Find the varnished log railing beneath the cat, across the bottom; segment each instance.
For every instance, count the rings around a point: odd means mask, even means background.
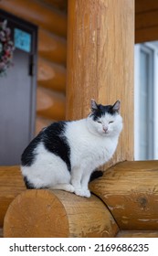
[[[19,169],[14,171],[19,176]],[[158,161],[127,161],[91,182],[90,198],[59,190],[24,191],[24,184],[18,185],[11,198],[20,195],[7,201],[4,236],[158,237],[157,180]],[[3,189],[5,202],[11,192]]]

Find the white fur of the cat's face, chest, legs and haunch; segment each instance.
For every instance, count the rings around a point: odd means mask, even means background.
[[[90,197],[90,175],[110,160],[122,129],[120,114],[106,113],[100,122],[94,122],[89,116],[67,124],[65,135],[70,146],[70,173],[66,163],[40,143],[34,164],[21,167],[23,175],[37,188],[63,189],[81,197]]]

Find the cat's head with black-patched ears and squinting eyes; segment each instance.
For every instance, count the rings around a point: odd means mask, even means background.
[[[91,112],[87,123],[91,133],[102,136],[115,136],[121,133],[122,118],[120,114],[121,101],[113,105],[101,105],[91,100]]]

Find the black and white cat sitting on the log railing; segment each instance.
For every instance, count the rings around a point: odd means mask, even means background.
[[[27,188],[62,189],[90,197],[91,173],[114,154],[122,129],[121,102],[91,100],[90,115],[52,123],[26,147],[21,170]]]

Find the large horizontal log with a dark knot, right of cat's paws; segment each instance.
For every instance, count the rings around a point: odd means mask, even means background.
[[[91,191],[100,197],[121,229],[158,229],[158,161],[124,162],[111,167]]]

